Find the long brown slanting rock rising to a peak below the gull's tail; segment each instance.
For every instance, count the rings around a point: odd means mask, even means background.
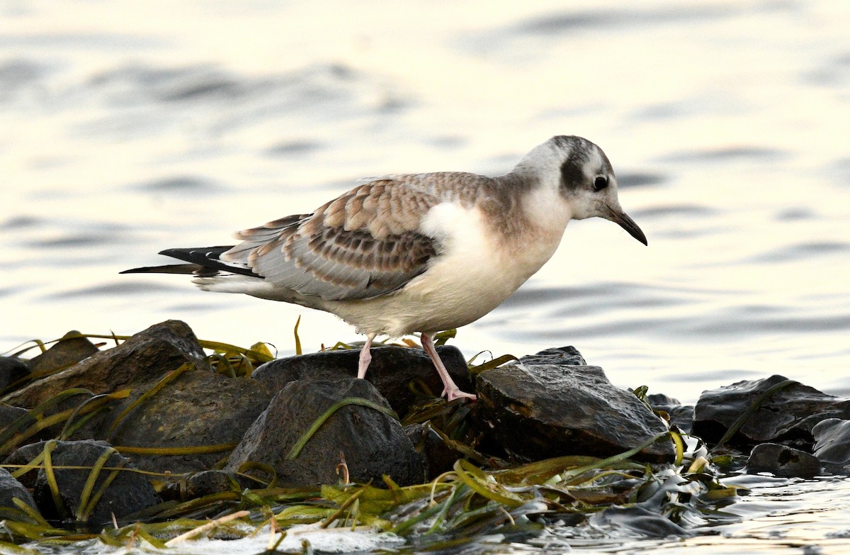
[[[116,392],[159,378],[183,363],[208,370],[204,358],[203,349],[189,326],[169,320],[133,335],[108,351],[97,352],[71,368],[33,381],[8,394],[3,401],[32,408],[72,387],[82,387],[95,394]]]

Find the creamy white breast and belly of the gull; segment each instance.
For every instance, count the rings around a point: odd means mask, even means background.
[[[441,203],[422,220],[422,232],[444,246],[426,272],[391,295],[337,302],[326,310],[362,333],[399,336],[460,327],[492,311],[539,270],[558,248],[564,226],[535,225],[522,237],[505,235],[478,208]]]

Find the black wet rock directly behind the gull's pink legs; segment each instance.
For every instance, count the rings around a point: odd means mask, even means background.
[[[439,358],[449,370],[452,380],[463,391],[471,392],[472,378],[463,355],[454,346],[437,347]],[[416,398],[408,387],[411,380],[422,380],[434,395],[443,391],[443,382],[433,363],[422,349],[399,346],[373,346],[366,380],[377,387],[393,410],[404,415]],[[293,380],[336,379],[340,375],[357,375],[360,349],[314,352],[265,363],[254,370],[252,378],[259,380],[270,392],[279,392]]]

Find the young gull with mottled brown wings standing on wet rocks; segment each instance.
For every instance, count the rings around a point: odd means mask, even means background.
[[[205,291],[282,300],[336,314],[365,335],[365,378],[377,335],[419,332],[448,400],[475,399],[451,379],[433,334],[483,317],[558,249],[570,220],[599,217],[647,244],[621,209],[608,157],[558,135],[507,175],[387,175],[310,214],[235,233],[228,246],[166,249],[188,264],[122,273],[194,274]]]

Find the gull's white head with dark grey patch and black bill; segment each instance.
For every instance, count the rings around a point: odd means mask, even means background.
[[[535,171],[543,186],[558,187],[571,219],[604,218],[647,244],[643,231],[620,206],[617,178],[608,157],[591,141],[558,135],[529,152],[520,166]]]

